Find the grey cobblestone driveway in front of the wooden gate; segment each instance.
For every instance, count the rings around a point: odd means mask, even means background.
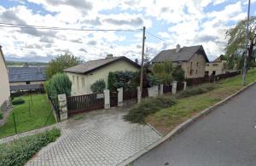
[[[124,122],[108,111],[69,121],[62,135],[26,165],[117,165],[161,138],[147,125]]]

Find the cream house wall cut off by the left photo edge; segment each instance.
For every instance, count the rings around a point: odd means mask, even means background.
[[[0,112],[5,111],[9,106],[9,78],[2,47],[0,46]]]

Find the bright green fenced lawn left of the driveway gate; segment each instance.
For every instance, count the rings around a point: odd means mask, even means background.
[[[20,96],[19,98],[25,100],[25,103],[15,105],[14,110],[12,111],[15,113],[17,132],[23,133],[32,129],[44,127],[44,123],[51,112],[47,96],[45,94],[32,95],[31,116],[29,114],[30,95]],[[15,124],[12,112],[9,115],[7,123],[0,127],[0,138],[15,135]],[[46,125],[53,123],[55,123],[55,117],[51,114]]]

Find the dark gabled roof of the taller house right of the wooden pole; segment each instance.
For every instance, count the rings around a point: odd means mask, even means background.
[[[188,61],[192,58],[194,54],[203,54],[209,62],[207,58],[207,54],[205,53],[203,47],[201,45],[197,46],[190,46],[190,47],[183,47],[178,52],[176,52],[176,49],[166,49],[161,51],[159,54],[157,54],[152,62],[163,62],[166,60],[171,61]]]

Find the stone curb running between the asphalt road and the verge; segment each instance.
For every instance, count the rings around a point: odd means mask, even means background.
[[[207,109],[199,112],[197,115],[194,117],[190,117],[188,120],[184,121],[183,123],[179,124],[175,129],[173,129],[170,133],[168,133],[166,136],[164,136],[162,139],[156,141],[154,144],[146,147],[143,149],[141,152],[138,152],[136,155],[126,159],[124,162],[119,163],[119,166],[125,166],[125,165],[130,165],[132,162],[134,162],[138,157],[142,157],[144,154],[147,152],[151,151],[154,149],[156,146],[160,146],[163,142],[166,140],[171,140],[173,136],[178,135],[181,133],[184,129],[188,128],[192,123],[195,123],[199,118],[207,116],[209,113],[213,112],[218,108],[218,106],[224,105],[227,101],[233,99],[236,95],[241,94],[244,90],[248,89],[249,87],[253,86],[253,83],[247,84],[246,87],[243,87],[239,91],[237,91],[235,94],[231,94],[230,96],[226,97],[224,100],[219,101],[218,103],[214,104],[213,106],[208,107]]]

